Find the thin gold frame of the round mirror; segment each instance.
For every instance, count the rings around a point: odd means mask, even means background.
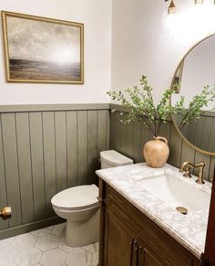
[[[204,40],[206,40],[206,39],[208,39],[208,38],[210,38],[210,37],[213,37],[213,36],[215,36],[215,33],[210,34],[209,36],[202,38],[202,39],[201,39],[200,41],[198,41],[195,45],[193,45],[191,48],[189,48],[189,51],[188,51],[188,52],[184,55],[184,57],[179,61],[179,65],[178,65],[177,69],[176,69],[175,72],[174,72],[173,78],[172,78],[172,80],[171,80],[171,87],[170,87],[171,89],[172,89],[172,87],[173,87],[174,80],[175,80],[175,76],[176,76],[176,74],[177,74],[177,72],[178,72],[178,70],[179,70],[179,67],[180,67],[180,65],[184,62],[184,60],[185,60],[186,57],[189,55],[189,53],[190,53],[194,48],[196,48],[200,43],[202,43]],[[215,83],[215,82],[214,82],[214,83]],[[180,90],[180,89],[179,89],[179,90]],[[179,91],[176,92],[176,93],[179,93]],[[170,104],[171,104],[171,99],[170,99]],[[205,151],[205,150],[202,150],[202,149],[200,149],[199,147],[195,146],[194,144],[191,144],[191,143],[189,142],[189,140],[183,135],[183,133],[181,133],[181,132],[179,131],[179,127],[178,127],[178,125],[176,124],[176,122],[175,122],[175,120],[174,120],[173,114],[171,114],[171,120],[172,120],[172,122],[173,122],[173,124],[174,124],[174,126],[175,126],[175,129],[176,129],[177,132],[179,133],[180,137],[181,137],[181,138],[182,138],[187,144],[189,144],[189,146],[191,146],[191,148],[193,148],[194,150],[200,152],[201,154],[206,154],[206,155],[210,155],[210,156],[215,156],[215,152]]]

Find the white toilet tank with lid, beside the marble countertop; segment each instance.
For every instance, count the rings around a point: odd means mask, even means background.
[[[100,152],[101,169],[116,167],[120,165],[132,165],[133,160],[114,150]]]

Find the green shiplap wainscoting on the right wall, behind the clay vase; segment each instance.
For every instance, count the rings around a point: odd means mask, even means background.
[[[152,135],[143,122],[133,122],[123,124],[119,122],[120,112],[128,112],[128,109],[117,104],[110,104],[110,109],[116,112],[110,113],[110,135],[109,147],[116,149],[119,153],[125,154],[134,159],[135,163],[144,162],[143,146],[151,138]],[[204,131],[206,129],[204,128]],[[169,141],[169,161],[170,165],[179,167],[181,163],[189,161],[190,163],[205,162],[204,179],[211,180],[215,166],[215,156],[200,154],[192,149],[189,144],[182,140],[176,131],[172,122],[163,123],[160,128],[160,136],[166,137]],[[198,175],[198,169],[194,173]]]

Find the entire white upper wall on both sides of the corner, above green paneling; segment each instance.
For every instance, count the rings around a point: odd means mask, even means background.
[[[1,42],[0,104],[108,102],[107,90],[137,85],[142,74],[159,101],[187,50],[215,32],[215,5],[202,12],[193,3],[176,1],[171,20],[164,0],[0,0],[5,11],[85,24],[84,85],[6,83]]]

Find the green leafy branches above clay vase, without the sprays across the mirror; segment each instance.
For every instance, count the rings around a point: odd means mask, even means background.
[[[152,88],[148,85],[146,76],[142,76],[140,87],[125,90],[128,97],[121,90],[108,91],[112,100],[121,101],[122,105],[129,108],[128,114],[121,122],[144,122],[154,136],[158,136],[160,125],[167,122],[171,113],[179,112],[183,108],[184,98],[181,97],[175,106],[171,106],[170,98],[174,90],[165,90],[158,105],[155,105],[152,97]]]

